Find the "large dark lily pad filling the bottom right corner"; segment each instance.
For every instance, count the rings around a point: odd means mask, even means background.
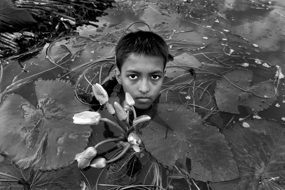
[[[210,183],[213,190],[285,189],[285,128],[273,120],[244,120],[223,130],[232,147],[240,177]],[[280,177],[272,179],[274,177]]]

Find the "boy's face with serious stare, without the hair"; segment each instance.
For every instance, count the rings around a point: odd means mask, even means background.
[[[158,96],[165,75],[163,62],[162,57],[130,54],[121,72],[115,70],[118,83],[131,94],[136,108],[147,109]]]

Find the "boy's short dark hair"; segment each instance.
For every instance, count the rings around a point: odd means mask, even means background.
[[[168,58],[168,47],[159,35],[150,31],[130,32],[123,36],[115,48],[117,67],[121,71],[122,65],[131,53],[148,56],[162,56],[163,68]]]

